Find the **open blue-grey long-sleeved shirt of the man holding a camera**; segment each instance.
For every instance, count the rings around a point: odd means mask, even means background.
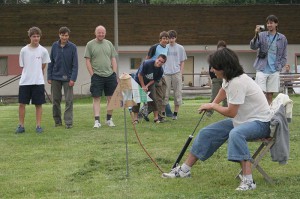
[[[275,60],[275,68],[276,71],[281,71],[281,69],[284,67],[286,64],[286,56],[287,56],[287,39],[286,37],[278,33],[276,41],[276,46],[277,46],[277,53],[276,53],[276,60]],[[268,37],[269,37],[269,32],[264,31],[260,32],[258,39],[253,38],[250,41],[250,48],[252,50],[257,50],[260,49],[262,52],[267,52],[268,51]],[[259,50],[257,51],[257,55],[259,53]],[[268,63],[268,56],[265,58],[259,58],[256,57],[255,62],[253,67],[256,70],[263,71],[264,68],[267,66]]]

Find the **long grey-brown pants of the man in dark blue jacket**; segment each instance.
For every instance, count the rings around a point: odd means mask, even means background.
[[[65,95],[65,112],[64,121],[66,125],[73,124],[73,87],[69,86],[69,82],[52,80],[51,94],[52,94],[52,111],[53,119],[56,124],[62,123],[61,119],[61,100],[62,100],[62,88]]]

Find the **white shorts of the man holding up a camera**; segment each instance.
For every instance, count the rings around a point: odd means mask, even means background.
[[[255,82],[265,93],[278,93],[280,86],[279,72],[266,74],[261,71],[256,72]]]

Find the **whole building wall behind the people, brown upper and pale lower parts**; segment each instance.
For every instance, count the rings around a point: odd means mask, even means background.
[[[300,56],[300,5],[259,6],[202,6],[202,5],[119,5],[119,73],[134,72],[130,58],[146,57],[149,47],[158,42],[159,32],[175,29],[177,41],[184,45],[187,55],[193,57],[192,83],[201,84],[199,74],[208,70],[207,55],[216,48],[219,39],[235,50],[247,73],[252,67],[256,52],[250,50],[249,41],[256,24],[264,24],[269,14],[279,17],[279,31],[288,38],[288,63],[298,65]],[[157,14],[153,14],[157,13]],[[94,38],[94,29],[102,24],[106,38],[114,42],[113,5],[4,5],[0,7],[0,56],[10,55],[10,71],[18,73],[16,64],[22,46],[29,42],[27,30],[38,26],[43,31],[41,44],[50,52],[51,44],[58,39],[58,29],[68,26],[70,40],[78,46],[79,77],[75,94],[88,94],[90,77],[83,58],[86,43]],[[299,72],[299,71],[298,71]],[[0,76],[0,83],[13,75]],[[189,76],[190,77],[190,76]],[[46,79],[46,77],[45,77]],[[50,86],[46,83],[50,92]],[[17,95],[18,81],[0,88],[0,95]]]

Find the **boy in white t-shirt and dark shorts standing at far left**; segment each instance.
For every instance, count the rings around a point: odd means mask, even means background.
[[[42,31],[38,27],[28,30],[30,44],[20,51],[19,64],[22,75],[19,82],[19,125],[16,133],[24,133],[25,107],[30,102],[36,108],[36,132],[42,133],[42,104],[45,100],[44,69],[50,63],[49,53],[40,45]]]

